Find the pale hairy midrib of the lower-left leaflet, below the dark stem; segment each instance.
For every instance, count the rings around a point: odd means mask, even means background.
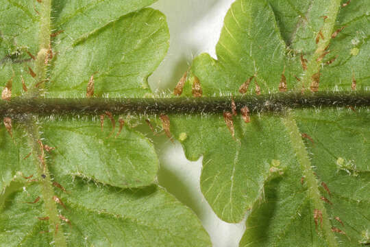
[[[38,126],[35,122],[35,119],[27,119],[25,121],[25,128],[28,132],[29,145],[32,147],[32,155],[34,156],[34,163],[37,167],[42,199],[45,204],[45,216],[49,217],[49,224],[51,226],[51,233],[53,233],[54,236],[53,240],[55,246],[66,247],[66,239],[62,231],[62,226],[60,225],[58,209],[56,207],[56,202],[53,200],[54,191],[51,184],[49,169],[47,168],[47,161],[40,140]]]

